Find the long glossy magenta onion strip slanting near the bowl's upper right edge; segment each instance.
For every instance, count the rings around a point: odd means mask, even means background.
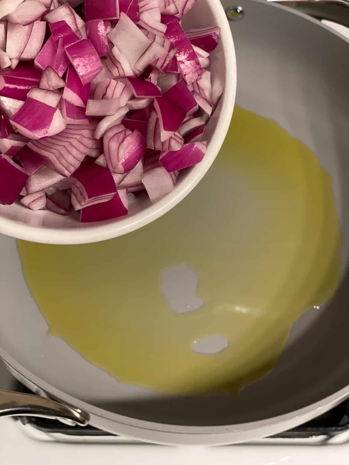
[[[177,48],[175,56],[181,73],[187,84],[191,84],[201,76],[203,70],[188,37],[178,21],[171,20],[167,24],[165,36]]]

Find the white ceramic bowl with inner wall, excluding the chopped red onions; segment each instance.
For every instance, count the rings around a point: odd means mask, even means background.
[[[225,12],[219,0],[198,0],[183,18],[184,29],[221,27],[221,40],[211,53],[212,79],[219,76],[224,92],[206,133],[207,152],[196,166],[183,170],[175,189],[152,204],[144,193],[131,205],[128,215],[120,219],[96,223],[79,223],[73,216],[65,217],[48,211],[32,211],[19,203],[0,205],[0,233],[18,239],[48,244],[82,244],[111,239],[145,226],[178,204],[194,189],[217,156],[228,131],[236,91],[236,60],[234,43]],[[204,199],[203,199],[204,201]]]

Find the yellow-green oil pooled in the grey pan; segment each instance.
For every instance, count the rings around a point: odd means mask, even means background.
[[[18,241],[18,251],[49,335],[120,382],[193,394],[237,392],[273,368],[295,320],[336,290],[340,245],[315,155],[236,107],[209,172],[160,219],[101,243]],[[179,264],[203,301],[184,313],[161,290],[161,273]],[[227,348],[193,350],[217,334]]]

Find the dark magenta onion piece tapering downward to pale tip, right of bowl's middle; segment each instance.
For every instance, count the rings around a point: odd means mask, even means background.
[[[186,113],[177,103],[167,97],[155,97],[154,108],[159,119],[163,142],[181,126]]]

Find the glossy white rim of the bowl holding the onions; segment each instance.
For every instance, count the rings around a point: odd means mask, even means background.
[[[212,153],[206,153],[201,163],[193,167],[192,172],[183,182],[183,187],[168,193],[155,204],[148,207],[147,214],[141,211],[129,217],[125,216],[122,220],[119,219],[119,221],[116,219],[116,221],[110,220],[101,224],[90,223],[91,226],[84,224],[84,226],[81,225],[81,229],[34,226],[21,223],[16,219],[0,217],[1,234],[11,236],[15,239],[24,239],[44,244],[85,244],[112,239],[130,233],[161,217],[194,189],[206,174],[221,149],[228,132],[236,96],[236,57],[228,19],[219,0],[208,0],[208,3],[211,4],[215,22],[221,27],[220,40],[223,44],[225,82],[229,84],[224,88],[220,101],[220,115],[209,144],[212,147]],[[35,213],[40,214],[40,212]]]

